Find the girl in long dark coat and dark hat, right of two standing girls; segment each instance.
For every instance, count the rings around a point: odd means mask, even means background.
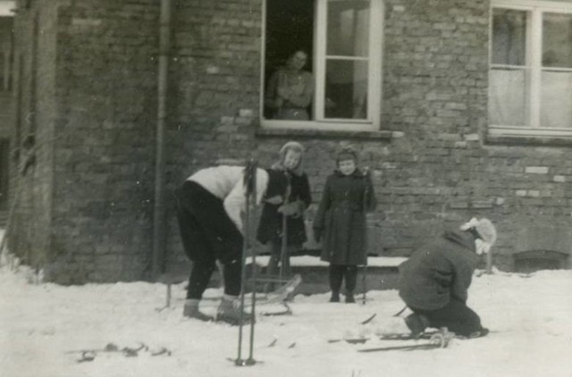
[[[355,302],[357,266],[367,264],[366,212],[377,205],[369,174],[357,169],[357,154],[349,148],[337,156],[338,169],[325,181],[314,219],[315,240],[322,243],[322,260],[330,263],[331,302],[340,302],[346,281],[346,302]],[[324,237],[322,237],[324,236]]]

